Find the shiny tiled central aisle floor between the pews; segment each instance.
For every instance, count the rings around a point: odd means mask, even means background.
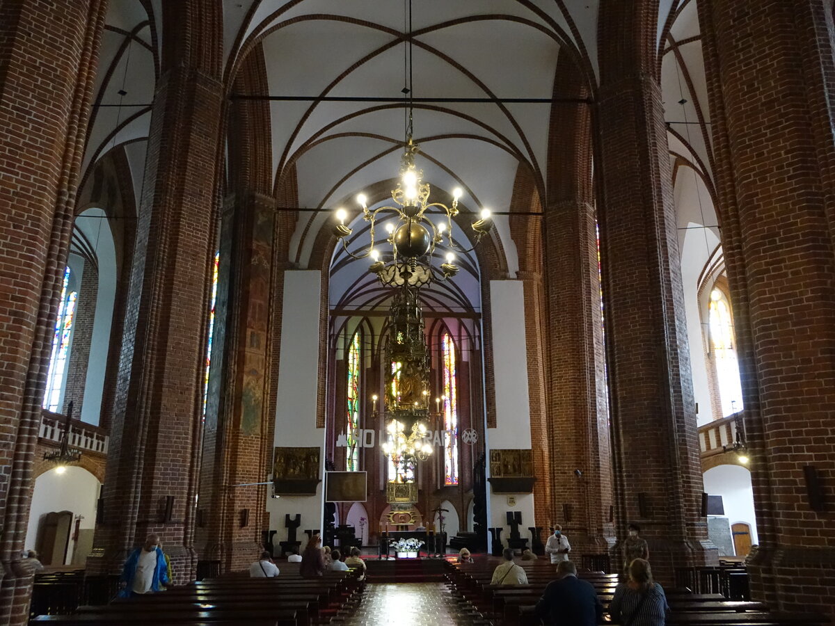
[[[368,583],[357,613],[345,626],[471,626],[473,618],[441,583]]]

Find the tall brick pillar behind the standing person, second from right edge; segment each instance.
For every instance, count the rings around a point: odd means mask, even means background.
[[[655,79],[600,88],[598,205],[618,534],[640,523],[655,573],[714,562],[700,517],[681,265],[664,109]],[[556,381],[555,381],[556,382]],[[618,554],[616,563],[620,563]]]

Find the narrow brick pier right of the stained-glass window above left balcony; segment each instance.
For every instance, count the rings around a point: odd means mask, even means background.
[[[84,384],[87,382],[87,366],[90,359],[90,344],[93,342],[98,295],[99,270],[89,261],[85,261],[73,321],[73,346],[69,352],[67,386],[63,393],[64,414],[67,412],[69,403],[73,402],[73,415],[78,420],[81,419]]]

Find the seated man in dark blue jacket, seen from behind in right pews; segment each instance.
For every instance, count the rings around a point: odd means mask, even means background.
[[[602,621],[603,606],[595,588],[577,578],[574,563],[560,561],[557,579],[536,603],[536,616],[549,626],[595,626]]]

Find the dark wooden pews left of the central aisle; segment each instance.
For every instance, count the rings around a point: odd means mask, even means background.
[[[307,579],[299,575],[297,563],[281,563],[277,578],[214,578],[102,606],[79,606],[71,615],[41,615],[30,623],[312,626],[356,608],[363,584],[355,572],[328,572]]]

